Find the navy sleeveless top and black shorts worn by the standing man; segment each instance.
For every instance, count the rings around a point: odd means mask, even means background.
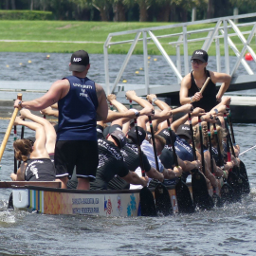
[[[54,162],[56,177],[71,176],[95,179],[99,163],[96,132],[98,98],[95,82],[69,76],[70,89],[58,101],[59,126]]]

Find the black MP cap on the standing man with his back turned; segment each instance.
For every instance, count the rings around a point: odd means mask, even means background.
[[[74,52],[70,59],[69,70],[82,72],[85,70],[87,64],[90,63],[88,52],[84,50],[78,50]]]

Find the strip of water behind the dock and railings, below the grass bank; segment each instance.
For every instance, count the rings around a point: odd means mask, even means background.
[[[46,59],[46,53],[17,53],[17,52],[0,52],[0,81],[43,81],[55,82],[70,74],[68,64],[70,54],[51,53],[50,58]],[[174,64],[176,57],[171,56]],[[125,55],[109,55],[109,76],[110,82],[115,82],[119,68],[125,59]],[[237,58],[230,57],[230,70],[232,70]],[[28,61],[31,63],[28,64]],[[183,59],[181,60],[181,69],[184,74]],[[151,56],[149,60],[149,82],[150,84],[176,84],[177,80],[171,67],[162,56]],[[104,83],[104,57],[102,54],[90,55],[91,68],[88,77],[95,82]],[[255,62],[247,62],[253,72],[256,73]],[[9,65],[9,67],[7,67]],[[222,72],[225,72],[225,59],[221,58]],[[127,64],[120,83],[126,80],[127,83],[144,84],[143,56],[132,55]],[[216,70],[216,58],[210,56],[209,70]],[[138,74],[136,74],[138,71]],[[237,75],[247,74],[245,68],[240,64]]]

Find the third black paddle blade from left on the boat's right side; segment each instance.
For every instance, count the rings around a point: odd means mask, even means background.
[[[181,179],[175,186],[175,192],[177,197],[177,205],[179,213],[192,213],[194,212],[194,205],[192,202],[192,195],[187,184]]]

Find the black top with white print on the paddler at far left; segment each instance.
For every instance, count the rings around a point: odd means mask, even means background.
[[[26,181],[54,181],[55,167],[49,158],[27,159]]]

